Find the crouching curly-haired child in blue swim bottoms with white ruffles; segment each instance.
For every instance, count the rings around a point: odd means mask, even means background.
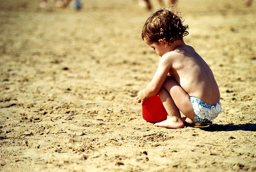
[[[153,13],[143,27],[142,39],[161,59],[153,79],[136,99],[143,106],[158,93],[169,115],[154,126],[177,129],[183,128],[184,122],[203,126],[221,111],[220,91],[212,70],[183,41],[187,29],[181,17],[166,9]],[[181,118],[180,112],[186,117]]]

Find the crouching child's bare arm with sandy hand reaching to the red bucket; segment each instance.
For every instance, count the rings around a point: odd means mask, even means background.
[[[141,90],[138,93],[138,96],[136,98],[138,103],[141,102],[141,105],[143,105],[144,101],[158,93],[158,91],[164,84],[164,81],[168,75],[168,72],[170,71],[171,66],[172,63],[170,61],[169,55],[164,54],[159,61],[158,68],[153,79],[148,83],[146,89]]]

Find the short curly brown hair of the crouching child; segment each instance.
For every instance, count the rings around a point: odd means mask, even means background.
[[[150,42],[158,43],[159,39],[167,43],[182,40],[188,35],[188,25],[183,25],[184,20],[176,13],[167,9],[160,9],[153,13],[146,21],[141,37]]]

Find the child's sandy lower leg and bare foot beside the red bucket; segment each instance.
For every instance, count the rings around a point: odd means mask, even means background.
[[[173,99],[168,93],[168,91],[165,90],[164,88],[161,88],[158,94],[170,118],[162,122],[157,122],[154,124],[154,126],[165,127],[169,129],[183,128],[185,125],[181,119],[180,110],[177,108],[177,106],[173,102]]]

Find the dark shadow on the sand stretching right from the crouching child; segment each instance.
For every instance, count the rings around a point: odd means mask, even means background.
[[[210,124],[209,127],[201,128],[204,131],[256,131],[256,124]]]

